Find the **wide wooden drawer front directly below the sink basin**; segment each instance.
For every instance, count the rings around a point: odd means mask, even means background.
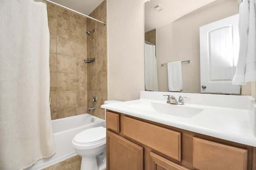
[[[181,133],[124,117],[124,135],[162,154],[181,161]]]

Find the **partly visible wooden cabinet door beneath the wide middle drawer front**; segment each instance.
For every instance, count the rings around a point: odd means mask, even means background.
[[[154,152],[150,152],[150,170],[189,170],[184,166],[180,166]]]

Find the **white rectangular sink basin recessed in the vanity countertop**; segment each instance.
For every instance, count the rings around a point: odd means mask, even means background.
[[[184,105],[174,105],[174,104],[164,104],[164,103],[155,103],[155,102],[145,102],[140,104],[133,104],[129,107],[133,107],[136,109],[143,109],[146,111],[154,111],[158,113],[164,113],[172,116],[178,117],[186,117],[190,118],[204,109],[197,108],[197,107],[190,107]]]

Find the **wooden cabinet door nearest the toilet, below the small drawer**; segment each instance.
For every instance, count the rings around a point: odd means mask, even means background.
[[[107,170],[143,170],[143,147],[107,130]]]

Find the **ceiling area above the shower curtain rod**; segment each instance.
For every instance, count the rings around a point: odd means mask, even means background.
[[[89,15],[104,0],[50,0],[72,10]]]

